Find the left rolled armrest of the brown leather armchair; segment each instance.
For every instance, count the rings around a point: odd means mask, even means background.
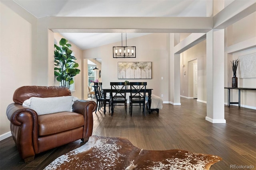
[[[25,162],[34,159],[38,153],[38,115],[36,111],[22,106],[10,104],[6,109],[10,120],[12,137],[16,143],[20,156]]]

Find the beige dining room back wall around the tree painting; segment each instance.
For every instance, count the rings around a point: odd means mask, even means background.
[[[148,88],[154,89],[152,94],[164,97],[162,99],[168,102],[168,33],[152,33],[127,39],[127,45],[136,46],[136,58],[114,59],[113,46],[120,46],[120,42],[101,47],[88,49],[83,52],[84,58],[102,58],[102,86],[108,88],[110,82],[123,82],[124,79],[118,79],[118,62],[141,61],[152,62],[152,79],[129,80],[148,82]],[[86,74],[86,73],[85,73]],[[161,80],[161,77],[164,80]]]

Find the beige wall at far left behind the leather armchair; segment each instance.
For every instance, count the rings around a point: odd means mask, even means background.
[[[36,18],[0,2],[0,135],[10,131],[6,108],[20,86],[37,84]]]

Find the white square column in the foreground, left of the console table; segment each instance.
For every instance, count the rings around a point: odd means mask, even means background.
[[[206,33],[207,115],[212,123],[224,119],[224,29]]]

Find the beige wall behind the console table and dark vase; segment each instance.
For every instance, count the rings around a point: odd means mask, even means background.
[[[232,67],[230,61],[238,59],[243,55],[256,53],[256,12],[237,21],[227,28],[227,82],[226,86],[231,86],[232,82]],[[247,41],[254,39],[254,46]],[[238,66],[236,76],[238,77],[238,87],[256,88],[256,78],[240,78],[240,68]],[[225,103],[227,103],[227,90],[225,90]],[[230,102],[238,102],[238,91],[230,91]],[[256,91],[241,90],[241,106],[256,109]]]

